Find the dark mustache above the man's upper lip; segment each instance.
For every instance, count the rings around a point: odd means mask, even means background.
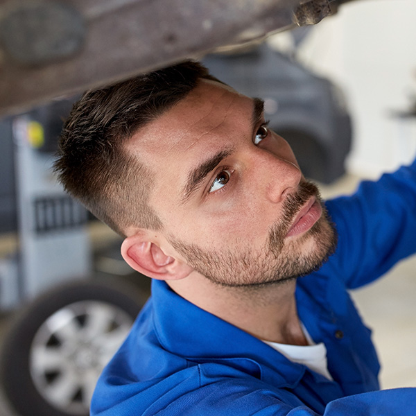
[[[286,197],[283,204],[283,216],[278,223],[272,225],[269,234],[269,245],[271,248],[281,248],[283,246],[284,237],[288,233],[293,218],[306,202],[315,196],[317,200],[321,200],[318,187],[310,181],[302,181],[295,193],[291,193]]]

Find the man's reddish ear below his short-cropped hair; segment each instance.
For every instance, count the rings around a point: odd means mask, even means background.
[[[121,245],[121,255],[131,268],[153,279],[183,279],[193,271],[187,263],[166,255],[144,234],[127,237]]]

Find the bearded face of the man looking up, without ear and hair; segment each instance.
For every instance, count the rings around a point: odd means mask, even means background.
[[[259,100],[201,80],[127,146],[155,176],[149,203],[173,254],[211,281],[286,281],[335,247],[318,189]]]

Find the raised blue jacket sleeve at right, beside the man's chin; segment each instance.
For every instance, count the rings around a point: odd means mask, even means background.
[[[324,268],[341,276],[347,288],[370,283],[416,252],[416,160],[326,205],[338,248]]]

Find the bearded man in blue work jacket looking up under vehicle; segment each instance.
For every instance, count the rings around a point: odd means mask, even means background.
[[[262,101],[184,62],[85,94],[55,168],[153,278],[92,415],[414,414],[347,288],[416,252],[416,163],[325,206]]]

